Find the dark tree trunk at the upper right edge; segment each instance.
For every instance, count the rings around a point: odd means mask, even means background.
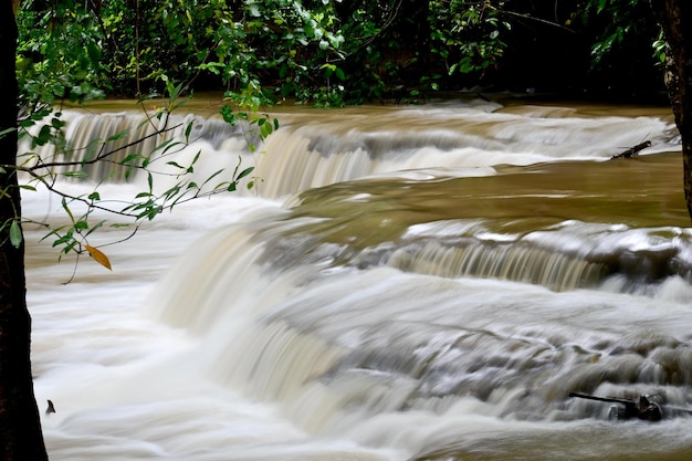
[[[650,2],[669,45],[665,86],[682,138],[684,196],[692,218],[692,1]]]

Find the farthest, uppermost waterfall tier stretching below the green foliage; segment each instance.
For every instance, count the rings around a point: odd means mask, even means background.
[[[119,161],[153,154],[153,159],[159,159],[154,169],[162,177],[160,188],[166,190],[180,171],[165,165],[167,157],[161,160],[161,146],[176,143],[179,165],[188,165],[201,153],[196,182],[218,169],[227,172],[219,182],[228,179],[240,158],[244,166],[255,167],[252,180],[256,188],[250,193],[280,198],[329,184],[407,171],[464,177],[492,174],[499,165],[606,160],[640,143],[642,136],[653,144],[649,154],[679,149],[672,123],[657,117],[590,118],[531,106],[524,112],[505,111],[481,99],[451,111],[444,104],[369,111],[365,115],[353,115],[349,109],[277,113],[281,128],[261,144],[251,126],[230,126],[213,115],[164,113],[157,118],[141,109],[65,109],[66,147],[55,151],[46,146],[39,154],[44,160],[64,155],[69,160],[85,161],[98,151],[115,150],[112,160],[87,169],[96,182],[125,180],[128,169]],[[188,124],[189,143],[185,136]],[[157,130],[162,133],[155,135]],[[133,144],[141,138],[146,140]],[[256,151],[249,145],[256,145]],[[27,144],[22,149],[30,150]],[[132,174],[136,178],[137,174]],[[145,184],[145,179],[135,180]]]

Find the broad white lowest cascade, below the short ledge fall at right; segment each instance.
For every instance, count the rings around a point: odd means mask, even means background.
[[[234,234],[227,239],[240,242]],[[630,392],[629,383],[684,405],[680,386],[692,386],[690,348],[675,339],[684,329],[632,334],[621,318],[625,312],[635,315],[644,331],[684,328],[683,312],[657,318],[657,297],[637,301],[632,311],[631,300],[607,291],[579,291],[575,297],[524,284],[405,274],[387,265],[327,269],[334,258],[324,248],[314,250],[319,259],[305,256],[285,268],[281,254],[248,245],[252,262],[233,253],[220,259],[223,247],[217,242],[203,254],[196,245],[193,258],[213,260],[228,275],[184,258],[162,285],[185,286],[203,274],[203,296],[190,304],[177,291],[175,300],[155,292],[155,304],[195,315],[186,325],[203,335],[213,379],[281,402],[313,432],[338,432],[392,411],[444,413],[470,397],[497,417],[599,415],[595,406],[566,406],[566,394],[621,395]]]

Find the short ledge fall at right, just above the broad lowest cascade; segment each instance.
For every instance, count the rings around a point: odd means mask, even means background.
[[[510,280],[556,291],[596,287],[612,279],[623,281],[622,291],[644,290],[672,276],[692,283],[688,250],[692,235],[686,230],[678,229],[678,237],[669,240],[656,231],[565,222],[526,235],[492,235],[474,224],[461,227],[474,228],[472,237],[458,232],[450,238],[460,229],[457,222],[438,222],[433,232],[412,230],[416,238],[400,244],[388,264],[409,272]]]

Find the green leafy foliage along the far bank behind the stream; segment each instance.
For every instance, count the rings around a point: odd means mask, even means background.
[[[18,65],[23,93],[42,102],[162,93],[162,76],[187,82],[182,95],[268,104],[416,102],[511,78],[513,61],[537,75],[576,63],[575,78],[656,73],[635,51],[659,34],[648,3],[25,0]]]

